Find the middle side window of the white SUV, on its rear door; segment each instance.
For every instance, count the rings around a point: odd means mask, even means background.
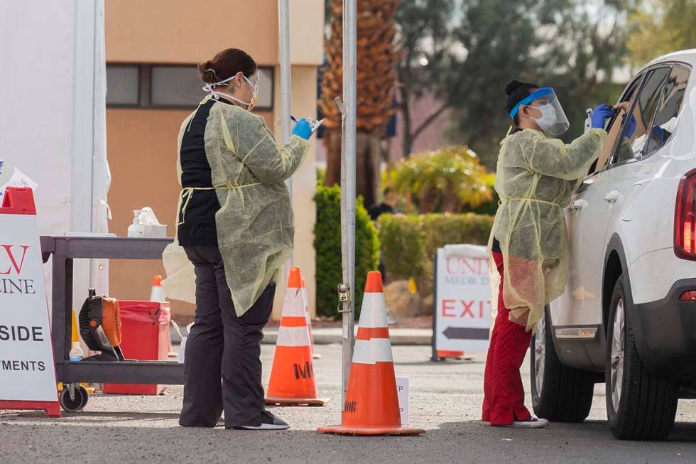
[[[624,121],[624,131],[611,163],[622,163],[638,158],[643,153],[643,148],[646,146],[651,133],[649,128],[653,114],[656,112],[669,75],[670,68],[653,70],[648,75],[636,104],[631,109],[631,117],[625,117],[623,112],[619,115]]]

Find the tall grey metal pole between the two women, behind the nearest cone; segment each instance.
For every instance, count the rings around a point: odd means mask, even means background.
[[[348,284],[349,301],[343,311],[342,404],[353,359],[355,314],[355,139],[357,80],[357,0],[343,0],[343,124],[341,169],[341,223],[343,281]]]

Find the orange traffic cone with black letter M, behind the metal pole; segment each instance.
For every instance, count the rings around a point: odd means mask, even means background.
[[[317,398],[304,299],[300,268],[293,266],[288,276],[266,404],[324,406],[329,402],[328,398]]]

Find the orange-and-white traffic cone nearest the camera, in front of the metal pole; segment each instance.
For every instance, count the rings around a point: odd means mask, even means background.
[[[318,431],[339,435],[425,433],[421,429],[401,427],[382,276],[379,272],[367,274],[341,425],[320,427]]]

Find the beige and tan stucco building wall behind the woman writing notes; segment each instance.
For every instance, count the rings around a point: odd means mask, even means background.
[[[279,137],[280,70],[276,0],[107,0],[108,63],[195,64],[228,47],[246,50],[259,65],[276,66],[274,108],[263,114]],[[290,1],[290,45],[293,61],[293,114],[316,112],[317,65],[322,63],[323,0]],[[132,210],[150,205],[173,234],[176,200],[176,136],[188,114],[177,109],[107,109],[107,156],[112,168],[109,228],[126,234]],[[316,208],[315,142],[303,166],[293,176],[295,264],[308,284],[310,308],[315,308],[313,227]],[[116,298],[148,298],[160,261],[112,260],[109,285]],[[276,293],[274,317],[280,317],[283,285]],[[192,315],[192,306],[173,302],[175,315]]]

